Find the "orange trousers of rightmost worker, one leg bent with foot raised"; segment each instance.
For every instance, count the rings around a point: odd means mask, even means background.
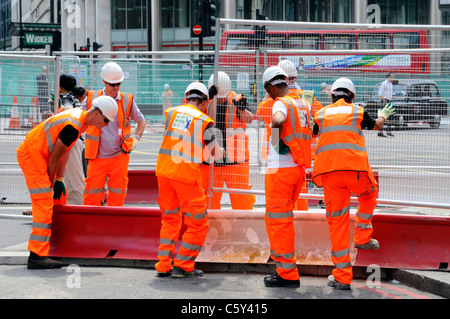
[[[350,196],[358,197],[355,217],[356,244],[367,243],[373,233],[372,215],[377,205],[378,186],[365,172],[331,172],[322,175],[327,222],[331,240],[334,278],[343,284],[353,279],[350,261]]]

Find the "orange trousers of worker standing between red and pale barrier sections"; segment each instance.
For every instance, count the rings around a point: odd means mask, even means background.
[[[158,176],[158,189],[162,219],[158,262],[155,268],[160,272],[169,272],[173,263],[174,266],[191,272],[209,227],[207,202],[201,179],[199,177],[196,184],[189,185]],[[183,219],[187,229],[175,256]]]

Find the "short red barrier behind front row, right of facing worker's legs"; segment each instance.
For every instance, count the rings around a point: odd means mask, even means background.
[[[158,180],[155,171],[129,170],[127,204],[157,204]]]

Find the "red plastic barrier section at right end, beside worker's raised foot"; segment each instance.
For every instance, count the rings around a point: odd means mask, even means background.
[[[358,250],[355,266],[395,269],[447,269],[450,218],[445,216],[375,214],[373,238],[378,250]]]

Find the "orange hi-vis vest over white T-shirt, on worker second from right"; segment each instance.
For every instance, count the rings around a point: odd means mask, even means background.
[[[306,168],[311,167],[311,129],[309,109],[295,93],[277,98],[286,105],[288,114],[280,138],[289,147],[294,161]]]

